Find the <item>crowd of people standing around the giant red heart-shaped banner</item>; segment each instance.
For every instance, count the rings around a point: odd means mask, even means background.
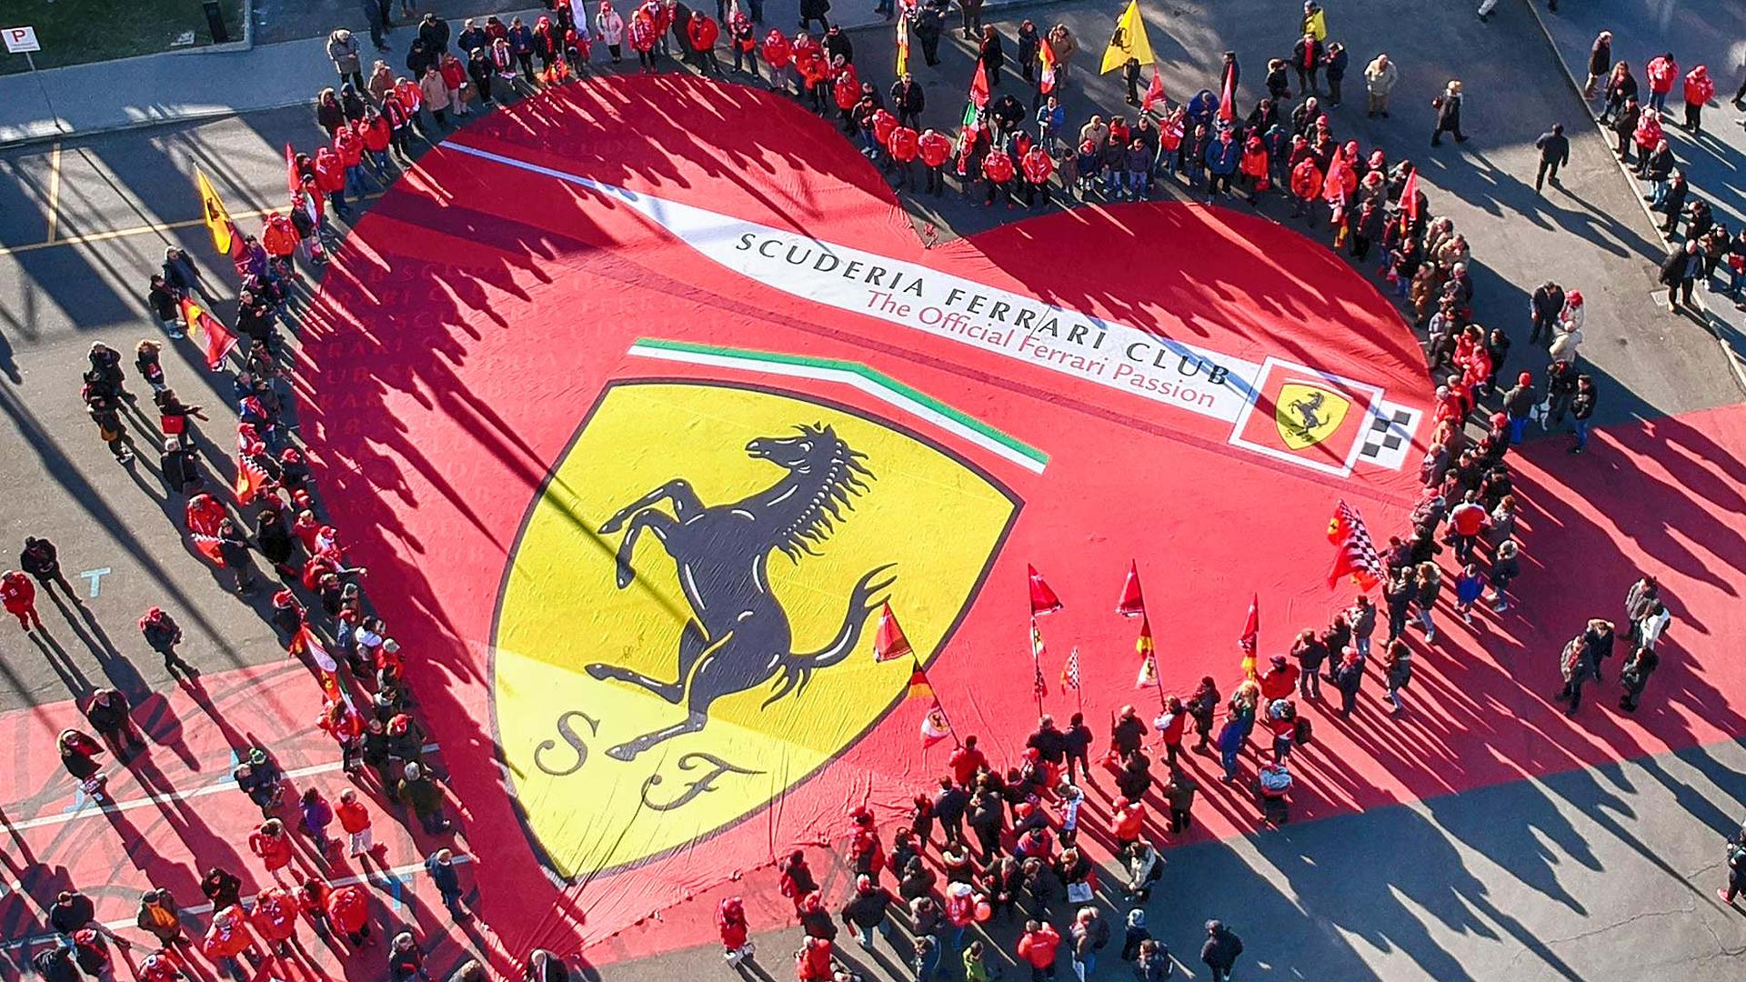
[[[1007,767],[990,762],[974,736],[966,737],[938,786],[915,793],[908,821],[889,840],[871,813],[850,814],[847,863],[856,879],[836,916],[861,947],[871,949],[875,937],[894,945],[917,979],[931,979],[948,958],[969,982],[995,977],[999,968],[988,942],[973,930],[983,923],[1011,923],[1020,930],[1013,956],[1039,980],[1055,979],[1062,954],[1086,979],[1117,930],[1119,958],[1133,965],[1142,982],[1168,977],[1172,954],[1147,930],[1145,902],[1163,872],[1161,839],[1182,835],[1193,823],[1201,790],[1196,758],[1217,757],[1219,781],[1247,788],[1262,821],[1283,823],[1290,814],[1292,751],[1313,741],[1316,711],[1337,715],[1337,725],[1346,725],[1360,711],[1367,674],[1381,676],[1388,713],[1406,711],[1402,692],[1416,657],[1411,627],[1423,640],[1418,657],[1428,657],[1435,650],[1439,610],[1474,626],[1475,608],[1477,617],[1486,617],[1486,608],[1493,615],[1510,608],[1523,554],[1509,451],[1523,442],[1529,425],[1552,432],[1566,416],[1573,433],[1570,451],[1584,453],[1589,440],[1596,386],[1578,369],[1582,294],[1552,281],[1533,292],[1529,346],[1545,363],[1514,372],[1514,384],[1507,384],[1510,339],[1502,328],[1477,323],[1467,241],[1451,218],[1432,213],[1411,159],[1392,159],[1381,147],[1365,152],[1357,140],[1341,143],[1336,136],[1332,112],[1343,105],[1353,63],[1348,49],[1329,38],[1327,17],[1313,2],[1304,5],[1301,37],[1290,51],[1266,61],[1266,94],[1248,112],[1236,101],[1238,56],[1226,52],[1217,91],[1208,86],[1180,103],[1161,84],[1147,86],[1142,66],[1130,63],[1124,82],[1131,112],[1095,114],[1077,128],[1069,124],[1062,105],[1079,51],[1072,31],[1065,24],[1042,31],[1025,19],[1009,56],[999,28],[981,23],[980,3],[962,3],[962,37],[974,44],[988,87],[981,110],[959,129],[924,126],[927,100],[913,73],[897,73],[889,89],[864,79],[849,35],[826,21],[824,0],[803,3],[801,30],[793,35],[773,28],[760,33],[756,2],[742,9],[718,0],[714,17],[677,0],[646,0],[625,14],[611,0],[602,0],[592,16],[573,9],[569,0],[553,0],[548,9],[533,24],[522,17],[508,24],[496,16],[468,19],[454,37],[442,17],[424,14],[407,45],[405,73],[377,59],[365,75],[358,37],[346,28],[330,35],[327,49],[340,82],[323,89],[314,103],[325,143],[288,161],[283,211],[264,215],[258,234],[234,229],[236,328],[246,344],[220,362],[230,372],[239,418],[234,461],[218,467],[201,453],[206,440],[196,430],[210,419],[169,386],[159,358],[162,341],[143,339],[134,351],[134,370],[152,390],[155,419],[136,405],[122,355],[103,344],[91,348],[80,395],[100,437],[122,465],[131,465],[150,442],[159,451],[166,493],[183,501],[192,549],[222,568],[241,594],[271,584],[265,617],[286,652],[302,659],[321,687],[318,725],[333,737],[349,778],[328,800],[314,785],[293,788],[271,748],[234,748],[239,762],[232,776],[262,813],[248,839],[250,853],[272,886],[243,898],[243,879],[234,870],[210,868],[201,891],[213,914],[199,942],[185,933],[182,910],[194,898],[162,888],[145,891],[138,928],[154,938],[155,951],[140,963],[138,975],[147,982],[176,982],[189,975],[196,952],[239,982],[269,959],[309,965],[302,924],[342,954],[372,945],[375,917],[363,877],[335,875],[342,868],[340,853],[360,874],[372,861],[388,868],[386,849],[372,837],[367,802],[403,809],[438,840],[452,835],[442,776],[407,683],[409,660],[368,605],[367,571],[347,561],[342,535],[321,507],[299,447],[281,328],[295,330],[295,301],[309,288],[300,267],[327,262],[339,241],[328,215],[349,220],[356,197],[386,189],[410,166],[414,140],[435,143],[473,112],[475,101],[491,107],[505,91],[531,94],[588,77],[601,61],[595,47],[604,47],[604,61],[616,66],[629,42],[643,72],[681,61],[709,75],[726,72],[718,56],[718,47],[726,45],[732,72],[836,121],[845,138],[856,140],[897,187],[920,194],[945,194],[950,182],[985,206],[1046,208],[1056,196],[1063,203],[1145,199],[1163,194],[1168,182],[1206,201],[1241,196],[1254,208],[1290,203],[1290,218],[1303,220],[1310,234],[1325,236],[1332,248],[1344,248],[1365,267],[1374,264],[1374,276],[1406,306],[1423,335],[1437,379],[1432,435],[1419,472],[1425,491],[1409,528],[1390,536],[1381,550],[1376,584],[1381,606],[1360,592],[1325,627],[1303,629],[1289,655],[1273,655],[1245,671],[1229,697],[1208,676],[1193,692],[1163,695],[1151,723],[1137,708],[1123,708],[1096,760],[1093,748],[1100,741],[1083,715],[1074,715],[1067,729],[1042,716],[1021,758]],[[386,52],[389,3],[363,0],[363,10],[374,47]],[[889,12],[908,21],[922,61],[938,65],[939,40],[952,30],[948,2],[904,3]],[[808,33],[814,21],[821,28],[817,37]],[[1386,117],[1399,68],[1386,54],[1360,63],[1365,114]],[[1603,121],[1619,133],[1620,159],[1629,163],[1636,150],[1634,166],[1650,182],[1648,197],[1667,211],[1666,231],[1678,234],[1678,222],[1685,222],[1685,243],[1662,267],[1669,308],[1676,290],[1683,288],[1688,302],[1692,281],[1709,278],[1722,262],[1730,269],[1734,297],[1746,280],[1746,229],[1730,236],[1708,204],[1688,199],[1660,135],[1660,112],[1678,77],[1671,54],[1653,59],[1650,100],[1639,107],[1631,68],[1612,61],[1610,35],[1603,33],[1587,80],[1589,94],[1603,100]],[[1713,84],[1702,66],[1685,75],[1688,129],[1697,131],[1701,105],[1711,96]],[[1743,96],[1746,87],[1736,105]],[[1461,100],[1458,80],[1435,96],[1433,147],[1442,135],[1468,138]],[[959,107],[948,108],[957,117]],[[1563,129],[1554,128],[1538,145],[1536,187],[1545,180],[1557,183],[1557,168],[1568,161]],[[1318,231],[1323,222],[1325,231]],[[169,248],[159,273],[150,276],[147,304],[169,342],[176,342],[190,330],[183,301],[210,294],[194,262]],[[1516,360],[1523,362],[1519,355]],[[1538,355],[1533,362],[1540,362]],[[136,440],[129,423],[152,439]],[[220,470],[239,475],[229,496],[223,482],[213,479]],[[1439,561],[1446,547],[1449,563]],[[265,559],[269,573],[262,575],[255,556]],[[59,589],[72,603],[82,603],[45,536],[28,538],[19,570],[0,575],[0,601],[24,631],[45,631],[35,610],[38,589]],[[1620,711],[1638,708],[1659,666],[1655,647],[1669,620],[1652,577],[1629,589]],[[138,626],[166,671],[185,681],[199,674],[178,650],[183,634],[169,612],[154,606]],[[1372,673],[1369,659],[1379,629],[1381,666]],[[1564,687],[1557,701],[1566,713],[1577,713],[1585,685],[1601,681],[1613,648],[1615,626],[1605,619],[1591,619],[1563,648],[1557,666]],[[1323,701],[1323,681],[1337,695],[1337,708]],[[82,792],[103,804],[107,772],[100,758],[112,755],[126,765],[145,741],[124,694],[98,690],[82,709],[91,732],[65,730],[61,760]],[[1161,776],[1154,774],[1158,757]],[[1100,776],[1109,779],[1109,792]],[[1093,800],[1088,790],[1100,799]],[[1166,813],[1159,821],[1152,819],[1154,807]],[[340,832],[330,835],[335,821]],[[1098,902],[1102,870],[1086,851],[1088,842],[1117,863],[1119,882],[1102,893],[1130,909],[1114,926]],[[1741,861],[1732,867],[1727,898],[1746,879],[1746,847],[1734,849]],[[463,919],[468,910],[454,865],[449,847],[435,849],[423,863],[445,907]],[[849,968],[835,958],[838,926],[805,853],[787,856],[779,877],[779,889],[793,900],[805,931],[794,956],[798,979],[845,979]],[[103,979],[112,945],[129,945],[94,919],[91,900],[77,889],[58,898],[51,924],[59,944],[44,947],[33,963],[52,982],[75,982],[80,972]],[[754,958],[739,898],[721,902],[718,926],[730,965]],[[908,937],[899,938],[899,926]],[[1243,951],[1238,935],[1219,921],[1206,923],[1200,945],[1212,979],[1227,979]],[[386,958],[395,982],[428,979],[410,931],[393,937]],[[546,982],[560,965],[559,956],[536,951],[527,959],[529,979]],[[484,982],[489,973],[470,961],[457,977]]]

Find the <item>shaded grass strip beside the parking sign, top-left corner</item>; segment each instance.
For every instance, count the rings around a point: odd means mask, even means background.
[[[243,0],[218,0],[218,7],[230,40],[243,40]],[[213,42],[201,0],[5,0],[0,21],[0,28],[37,28],[37,68],[157,54],[185,31],[194,31],[194,47]],[[23,54],[0,49],[0,75],[28,70]]]

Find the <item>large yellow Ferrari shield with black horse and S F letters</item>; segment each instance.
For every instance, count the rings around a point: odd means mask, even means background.
[[[955,453],[812,397],[615,383],[533,503],[499,598],[494,709],[564,877],[662,856],[777,802],[868,734],[1018,501]]]

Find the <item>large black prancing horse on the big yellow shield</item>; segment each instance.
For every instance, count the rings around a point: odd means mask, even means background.
[[[765,570],[770,554],[782,550],[796,561],[801,554],[817,556],[814,543],[831,535],[833,522],[845,521],[843,510],[854,510],[850,500],[868,491],[861,479],[873,477],[861,465],[866,454],[850,449],[831,426],[796,430],[796,437],[760,437],[746,444],[747,456],[787,472],[765,491],[705,507],[690,482],[674,479],[625,505],[601,526],[601,535],[625,529],[618,543],[618,589],[636,578],[630,557],[637,536],[648,531],[677,566],[679,589],[691,605],[691,620],[679,633],[679,673],[674,681],[601,662],[587,667],[594,678],[641,685],[686,708],[684,720],[622,743],[608,750],[608,757],[632,760],[662,741],[702,730],[716,699],[770,680],[777,683],[765,706],[791,692],[798,695],[814,671],[835,666],[854,652],[868,615],[885,603],[875,594],[882,594],[896,577],[875,578],[890,570],[890,563],[863,573],[829,645],[794,654],[787,612],[770,591]],[[672,501],[672,515],[653,507],[663,500]]]

